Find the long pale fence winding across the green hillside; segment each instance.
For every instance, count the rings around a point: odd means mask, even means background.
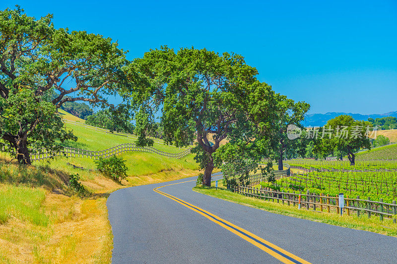
[[[183,158],[186,155],[190,154],[190,150],[191,149],[187,149],[180,153],[168,153],[168,152],[159,151],[153,147],[137,147],[133,143],[126,143],[126,144],[117,145],[113,148],[103,151],[89,151],[89,150],[65,147],[64,151],[51,154],[46,152],[45,150],[39,152],[37,152],[36,150],[36,153],[32,152],[30,158],[32,161],[41,160],[45,158],[52,158],[54,156],[99,159],[99,158],[108,158],[114,155],[119,155],[122,153],[134,152],[134,151],[154,153],[168,158]]]

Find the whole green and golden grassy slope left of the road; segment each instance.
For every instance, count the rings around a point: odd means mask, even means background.
[[[60,113],[69,120],[84,122],[62,110]],[[66,125],[78,137],[77,142],[67,143],[70,147],[100,151],[132,143],[125,137]],[[169,153],[184,150],[163,144],[154,147]],[[109,194],[199,173],[193,154],[181,159],[143,152],[121,157],[129,170],[127,179],[118,184],[97,171],[89,158],[56,157],[24,167],[0,152],[0,263],[110,263],[113,235],[106,208]],[[72,173],[80,175],[88,190],[86,197],[67,186]]]

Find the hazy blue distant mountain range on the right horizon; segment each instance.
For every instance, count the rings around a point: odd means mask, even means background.
[[[308,126],[324,126],[328,120],[341,115],[347,114],[351,115],[355,120],[368,120],[369,117],[372,118],[382,118],[386,116],[394,116],[397,117],[397,111],[395,112],[387,112],[383,114],[359,114],[359,113],[342,113],[342,112],[328,112],[328,113],[313,113],[308,114],[303,121],[303,125]]]

